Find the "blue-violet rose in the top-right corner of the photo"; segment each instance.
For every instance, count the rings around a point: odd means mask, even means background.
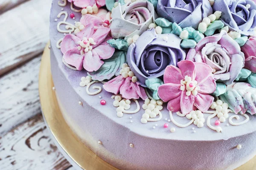
[[[255,34],[256,4],[252,0],[215,0],[212,8],[222,12],[221,20],[230,30]]]

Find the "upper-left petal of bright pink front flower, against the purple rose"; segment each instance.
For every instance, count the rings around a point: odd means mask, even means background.
[[[179,68],[174,65],[166,67],[163,74],[164,83],[180,84],[180,80],[184,79]]]

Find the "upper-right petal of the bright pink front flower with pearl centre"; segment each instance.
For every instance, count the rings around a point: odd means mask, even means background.
[[[198,85],[204,82],[209,76],[212,76],[212,68],[203,62],[195,62],[195,68],[195,80],[198,82]]]

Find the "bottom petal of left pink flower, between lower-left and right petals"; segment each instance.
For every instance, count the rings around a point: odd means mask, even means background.
[[[103,65],[103,61],[100,60],[99,55],[94,49],[84,53],[84,69],[92,72],[97,71]]]

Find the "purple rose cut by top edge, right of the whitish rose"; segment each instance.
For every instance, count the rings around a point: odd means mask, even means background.
[[[157,14],[182,28],[197,29],[204,17],[212,14],[209,0],[158,0]]]

